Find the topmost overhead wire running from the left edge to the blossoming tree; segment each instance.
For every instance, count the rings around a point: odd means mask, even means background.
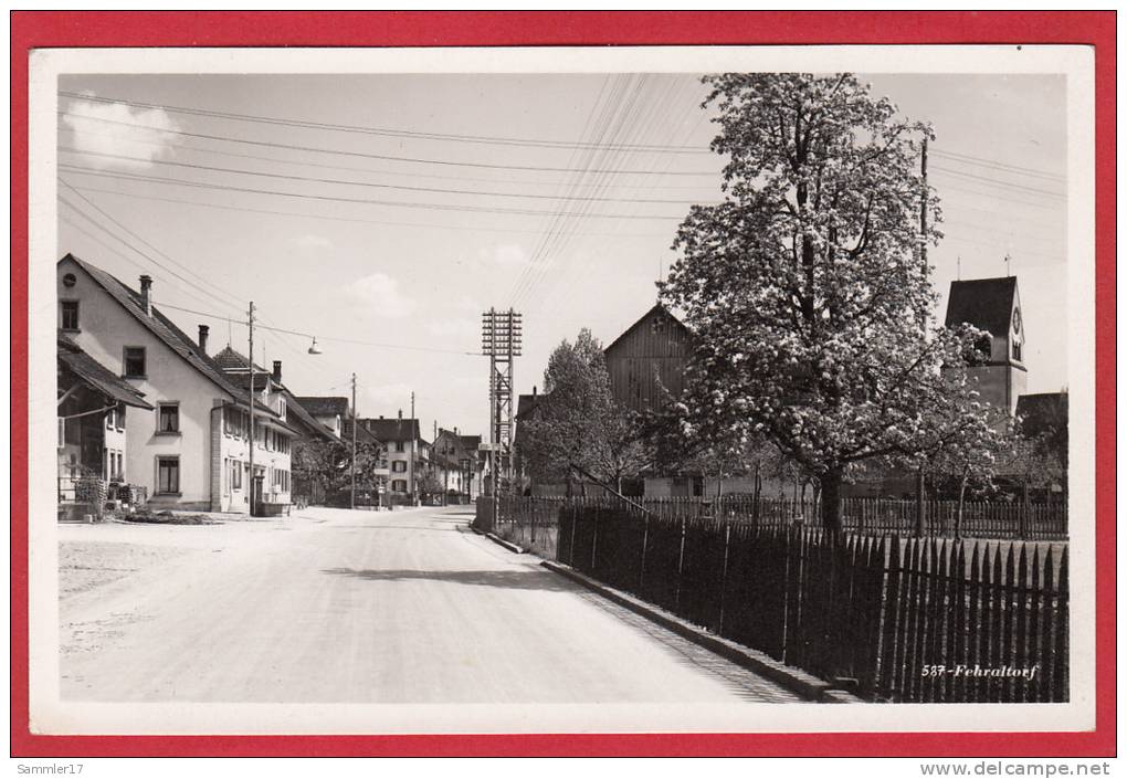
[[[492,145],[509,147],[534,147],[539,149],[610,149],[614,151],[640,151],[662,152],[667,154],[704,154],[708,149],[698,145],[660,145],[639,143],[591,143],[584,141],[560,141],[530,138],[503,138],[499,135],[468,135],[454,133],[432,133],[416,130],[397,130],[392,127],[367,127],[354,124],[334,124],[329,122],[312,122],[308,119],[283,118],[275,116],[259,116],[255,114],[238,114],[233,112],[212,110],[206,108],[190,108],[186,106],[172,106],[162,103],[142,103],[140,100],[126,100],[122,98],[96,97],[60,90],[62,97],[69,97],[87,103],[100,103],[107,105],[126,105],[135,108],[151,108],[170,112],[174,114],[185,114],[190,116],[207,116],[212,118],[231,119],[237,122],[252,122],[257,124],[281,125],[286,127],[304,127],[309,130],[328,130],[343,133],[360,133],[365,135],[387,135],[390,138],[410,138],[427,141],[455,141],[461,143],[485,143]]]

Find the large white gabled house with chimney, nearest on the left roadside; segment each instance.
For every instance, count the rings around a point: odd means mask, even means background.
[[[154,304],[152,280],[140,291],[66,255],[56,266],[60,327],[151,411],[125,424],[125,470],[157,507],[250,511],[251,485],[264,503],[290,502],[290,448],[298,434],[256,398],[255,472],[249,471],[250,399],[222,368]]]

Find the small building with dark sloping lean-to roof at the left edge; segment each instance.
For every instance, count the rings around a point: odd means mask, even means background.
[[[76,311],[77,317],[77,311]],[[68,331],[79,330],[69,320]],[[126,452],[126,410],[152,411],[142,392],[96,361],[60,330],[59,388],[59,504],[92,502],[100,485],[127,485],[131,469]],[[132,499],[132,498],[131,498]]]

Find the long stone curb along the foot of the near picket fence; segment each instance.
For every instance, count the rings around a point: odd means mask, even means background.
[[[693,644],[702,646],[706,649],[720,655],[725,660],[731,661],[736,665],[754,671],[761,676],[775,682],[780,687],[787,688],[791,692],[798,693],[807,700],[823,703],[864,702],[860,698],[857,698],[844,690],[834,688],[829,684],[829,682],[823,679],[818,679],[817,676],[805,671],[784,665],[762,652],[749,649],[748,647],[736,644],[727,638],[713,636],[707,632],[703,628],[692,625],[691,622],[686,622],[678,617],[674,617],[667,611],[646,603],[633,595],[628,595],[620,590],[614,590],[605,584],[601,584],[589,576],[580,574],[578,570],[560,565],[559,563],[553,563],[552,560],[541,560],[540,565],[571,579],[573,582],[576,582],[577,584],[582,584],[588,590],[598,593],[603,597],[613,601],[619,605],[630,609],[630,611],[636,614],[645,617],[667,630],[672,630],[682,638],[686,638]]]

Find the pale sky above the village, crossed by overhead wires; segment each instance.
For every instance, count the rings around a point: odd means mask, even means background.
[[[1028,391],[1067,386],[1063,77],[873,76],[933,123],[950,282],[1018,276]],[[520,392],[583,327],[656,301],[681,219],[720,196],[693,74],[68,76],[59,255],[136,286],[300,396],[487,435],[481,312],[523,313]],[[238,115],[238,116],[232,116]],[[320,355],[308,348],[316,336]]]

